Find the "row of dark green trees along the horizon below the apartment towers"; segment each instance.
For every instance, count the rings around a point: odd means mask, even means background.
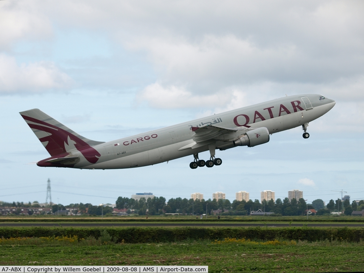
[[[9,206],[9,207],[39,207],[37,203],[33,203],[33,205],[29,203],[23,202],[13,202],[6,203],[1,202],[1,206]],[[75,207],[78,208],[78,212],[81,214],[89,214],[89,215],[104,215],[110,214],[113,210],[111,207],[105,206],[93,206],[91,203],[75,203],[67,206],[63,206],[62,204],[53,204],[52,212],[56,212],[58,210],[65,210],[66,207]],[[331,199],[328,204],[325,206],[324,201],[321,199],[316,199],[312,202],[312,204],[307,204],[303,198],[292,199],[289,201],[288,198],[284,198],[281,200],[278,198],[276,201],[270,199],[269,201],[264,200],[262,203],[258,199],[254,201],[249,200],[246,202],[234,200],[232,203],[228,199],[187,199],[187,198],[171,198],[166,203],[166,198],[164,197],[154,197],[154,198],[141,198],[139,201],[128,198],[128,197],[119,197],[116,200],[116,208],[118,209],[126,209],[128,213],[137,213],[139,215],[160,215],[164,213],[181,213],[181,214],[211,214],[213,210],[221,210],[220,214],[222,215],[246,215],[249,214],[250,211],[256,211],[261,209],[264,212],[273,212],[274,215],[303,215],[305,214],[306,209],[315,209],[317,211],[317,215],[330,214],[332,211],[344,211],[346,215],[351,215],[354,210],[363,210],[364,209],[364,200],[361,200],[359,204],[356,201],[353,201],[350,204],[349,200],[341,201],[339,198],[337,200]]]

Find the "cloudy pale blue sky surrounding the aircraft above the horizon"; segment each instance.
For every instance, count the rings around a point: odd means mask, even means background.
[[[363,1],[0,1],[0,200],[115,203],[119,196],[312,202],[364,199]],[[285,95],[336,101],[269,143],[135,169],[38,167],[49,157],[19,115],[39,108],[111,141]],[[207,160],[209,152],[199,155]]]

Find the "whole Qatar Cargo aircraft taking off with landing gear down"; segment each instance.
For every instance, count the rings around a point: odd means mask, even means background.
[[[51,155],[37,162],[41,167],[124,169],[193,155],[190,167],[196,169],[221,165],[216,149],[264,144],[270,134],[297,126],[308,138],[308,123],[334,105],[318,94],[286,96],[110,142],[82,137],[39,109],[20,114]],[[210,151],[209,160],[198,158],[203,151]]]

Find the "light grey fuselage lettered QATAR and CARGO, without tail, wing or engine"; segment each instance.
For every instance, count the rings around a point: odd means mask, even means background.
[[[101,154],[95,164],[88,162],[80,152],[73,152],[73,154],[77,154],[81,158],[74,168],[124,169],[141,167],[207,151],[209,150],[207,145],[196,149],[179,150],[181,147],[193,142],[194,132],[191,127],[201,127],[205,124],[225,128],[266,127],[270,134],[274,134],[302,126],[327,113],[335,105],[335,101],[322,98],[318,94],[287,96],[102,143],[93,146]],[[221,150],[234,147],[232,142],[223,141],[216,141],[214,145],[215,149]]]

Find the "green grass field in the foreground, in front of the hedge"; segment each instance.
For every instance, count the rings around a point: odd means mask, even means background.
[[[363,242],[229,240],[218,243],[102,244],[103,238],[12,240],[0,242],[0,265],[208,265],[209,272],[345,272],[364,269]]]

